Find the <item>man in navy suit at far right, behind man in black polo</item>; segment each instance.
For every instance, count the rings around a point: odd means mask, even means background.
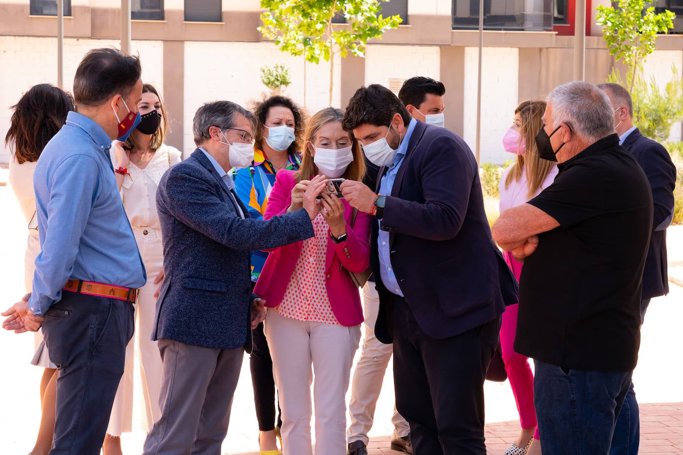
[[[673,218],[673,189],[676,184],[676,168],[669,152],[660,143],[641,134],[633,126],[633,102],[630,93],[615,83],[598,85],[607,93],[615,115],[615,130],[619,145],[626,147],[640,164],[652,188],[654,207],[652,236],[647,250],[643,271],[643,295],[641,297],[641,321],[652,297],[669,293],[667,277],[667,227]],[[640,442],[638,402],[631,382],[624,406],[619,412],[612,439],[612,454],[636,455]]]

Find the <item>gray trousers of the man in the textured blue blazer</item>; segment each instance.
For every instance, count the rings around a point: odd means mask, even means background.
[[[212,349],[158,341],[163,362],[161,418],[144,455],[220,455],[244,349]]]

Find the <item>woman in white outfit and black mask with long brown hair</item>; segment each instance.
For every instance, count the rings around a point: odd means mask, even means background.
[[[120,436],[132,430],[133,420],[133,349],[135,338],[139,344],[143,405],[143,429],[149,430],[161,417],[159,389],[161,387],[161,355],[156,341],[151,341],[156,311],[158,288],[164,277],[161,226],[156,213],[156,188],[159,179],[169,167],[180,162],[180,151],[165,145],[168,128],[165,108],[158,92],[145,84],[142,100],[138,104],[141,121],[125,143],[115,141],[111,147],[111,160],[121,190],[126,214],[133,226],[135,240],[147,270],[148,282],[140,289],[135,305],[135,334],[126,349],[126,366],[116,392],[104,455],[121,454]]]

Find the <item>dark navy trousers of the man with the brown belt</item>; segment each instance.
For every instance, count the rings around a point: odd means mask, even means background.
[[[63,291],[42,333],[57,365],[51,455],[98,455],[133,337],[133,304]]]

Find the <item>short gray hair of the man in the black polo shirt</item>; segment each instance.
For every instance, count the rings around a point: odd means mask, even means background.
[[[614,111],[607,93],[575,80],[555,87],[546,98],[553,105],[553,130],[567,123],[574,134],[595,142],[614,134]]]

